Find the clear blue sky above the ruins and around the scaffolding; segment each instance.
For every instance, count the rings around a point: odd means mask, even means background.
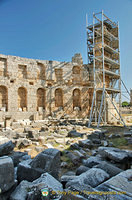
[[[132,88],[132,0],[0,0],[0,53],[87,63],[85,18],[104,13],[120,25],[121,75]]]

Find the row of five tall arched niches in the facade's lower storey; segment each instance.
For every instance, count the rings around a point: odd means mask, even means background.
[[[61,88],[55,90],[55,106],[64,106],[64,92]],[[8,110],[8,90],[5,86],[0,86],[0,108]],[[37,110],[39,107],[46,107],[46,91],[43,88],[37,90]],[[81,92],[79,89],[73,90],[73,108],[81,108]],[[27,90],[24,87],[18,88],[18,108],[23,110],[27,108]]]

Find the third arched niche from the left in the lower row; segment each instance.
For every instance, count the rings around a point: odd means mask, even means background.
[[[45,109],[45,89],[39,88],[37,90],[37,110]]]

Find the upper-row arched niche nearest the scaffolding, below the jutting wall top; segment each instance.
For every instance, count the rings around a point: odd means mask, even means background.
[[[72,75],[73,75],[73,83],[74,84],[80,84],[81,74],[80,74],[80,67],[79,66],[74,66],[73,67]]]

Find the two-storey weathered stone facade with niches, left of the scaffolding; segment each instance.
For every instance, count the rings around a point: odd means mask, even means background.
[[[88,117],[91,83],[80,54],[72,62],[0,55],[0,121]]]

